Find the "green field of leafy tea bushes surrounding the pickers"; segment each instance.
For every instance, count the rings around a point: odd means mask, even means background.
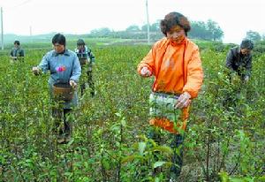
[[[64,145],[52,132],[49,74],[31,72],[51,44],[23,45],[26,57],[19,63],[1,50],[0,181],[166,181],[171,150],[146,136],[153,78],[136,72],[151,47],[96,40],[90,45],[96,95],[89,88],[79,95],[72,140]],[[265,181],[265,54],[254,56],[247,84],[231,84],[224,68],[229,47],[198,45],[205,78],[192,103],[180,181]],[[157,166],[161,172],[152,175]]]

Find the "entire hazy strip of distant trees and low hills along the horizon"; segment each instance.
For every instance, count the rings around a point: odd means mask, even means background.
[[[192,30],[188,33],[188,37],[194,40],[215,41],[222,42],[223,30],[219,27],[216,21],[208,19],[208,21],[192,21]],[[160,20],[150,24],[150,41],[155,42],[161,39],[164,35],[160,31]],[[114,31],[109,27],[101,27],[93,29],[89,34],[67,34],[67,37],[73,39],[79,38],[80,35],[86,38],[117,38],[117,39],[131,39],[133,42],[147,42],[148,25],[145,24],[141,27],[131,25],[122,31]],[[21,42],[50,42],[51,37],[55,33],[37,34],[32,36],[17,35],[17,34],[4,34],[5,44],[9,43],[12,46],[13,40]],[[246,37],[255,43],[255,48],[258,52],[265,51],[265,34],[259,34],[253,30],[246,32]],[[261,51],[262,50],[262,51]]]

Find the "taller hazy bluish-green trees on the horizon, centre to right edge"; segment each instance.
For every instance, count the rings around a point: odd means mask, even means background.
[[[192,39],[206,40],[206,41],[221,41],[223,39],[223,30],[214,20],[208,19],[208,21],[192,21],[192,30],[188,33],[188,36]],[[131,25],[124,31],[113,31],[108,27],[102,27],[94,29],[90,32],[89,36],[92,37],[113,37],[113,38],[125,38],[125,39],[147,39],[148,25],[145,24],[142,27],[137,25]],[[150,24],[150,39],[151,41],[158,40],[163,37],[160,31],[160,20],[156,20],[155,23]],[[246,32],[246,38],[253,40],[254,42],[260,42],[265,40],[265,35],[261,35],[255,31]]]

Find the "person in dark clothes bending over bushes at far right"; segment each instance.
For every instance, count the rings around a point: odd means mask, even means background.
[[[244,39],[239,47],[231,48],[226,57],[226,67],[230,70],[230,80],[239,76],[242,81],[247,82],[251,76],[252,54],[254,43]]]

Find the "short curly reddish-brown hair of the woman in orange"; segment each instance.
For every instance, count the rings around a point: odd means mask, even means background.
[[[167,35],[167,32],[170,32],[170,29],[175,26],[182,27],[186,35],[191,30],[189,20],[179,12],[170,12],[160,22],[161,32],[164,35]]]

